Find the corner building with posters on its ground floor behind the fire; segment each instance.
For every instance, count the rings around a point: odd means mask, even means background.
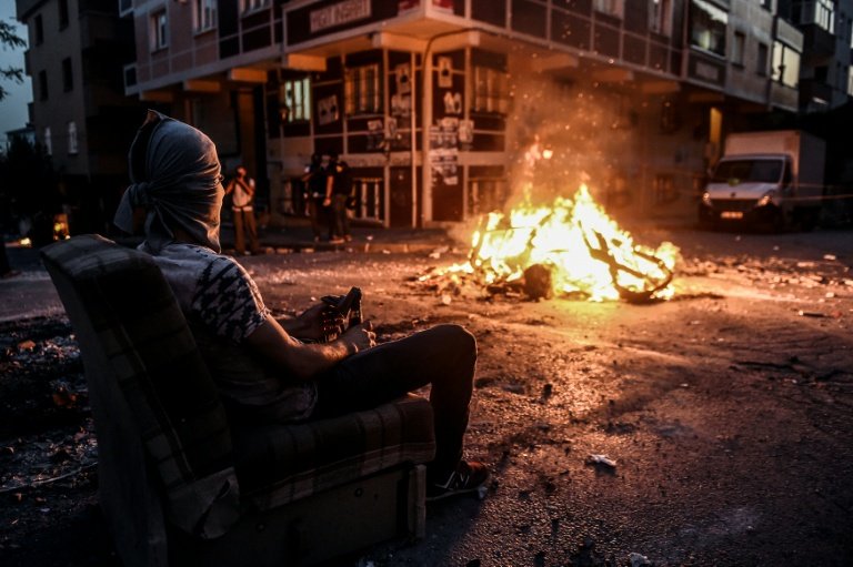
[[[770,1],[119,3],[128,94],[244,163],[271,222],[301,212],[298,178],[328,152],[353,168],[357,219],[384,226],[581,181],[616,216],[692,216],[724,134],[799,107],[803,33]]]

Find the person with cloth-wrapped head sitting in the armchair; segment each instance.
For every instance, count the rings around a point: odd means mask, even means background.
[[[213,142],[149,111],[130,149],[128,188],[116,213],[127,232],[144,226],[151,254],[174,292],[225,406],[235,418],[298,422],[367,409],[431,385],[436,454],[428,498],[479,489],[488,468],[462,459],[476,342],[438,325],[377,345],[370,322],[340,328],[323,304],[277,321],[252,277],[220,253],[223,188]],[[324,331],[339,336],[319,342]]]

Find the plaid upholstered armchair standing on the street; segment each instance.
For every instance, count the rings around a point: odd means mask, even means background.
[[[42,250],[80,344],[99,495],[126,565],[307,565],[424,534],[429,403],[229,423],[153,261],[94,235]]]

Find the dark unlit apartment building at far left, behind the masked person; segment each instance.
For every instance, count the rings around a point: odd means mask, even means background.
[[[59,173],[74,232],[109,230],[127,186],[127,148],[143,107],[124,94],[132,30],[116,0],[17,0],[27,26],[30,123]],[[38,190],[39,188],[33,188]]]

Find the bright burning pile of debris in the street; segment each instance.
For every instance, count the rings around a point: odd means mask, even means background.
[[[558,198],[551,206],[490,213],[474,232],[469,261],[448,272],[470,274],[484,285],[523,281],[536,272],[540,279],[545,274],[554,295],[665,300],[673,295],[678,256],[670,242],[658,249],[634,244],[584,184],[573,199]],[[531,272],[532,266],[540,269]]]

